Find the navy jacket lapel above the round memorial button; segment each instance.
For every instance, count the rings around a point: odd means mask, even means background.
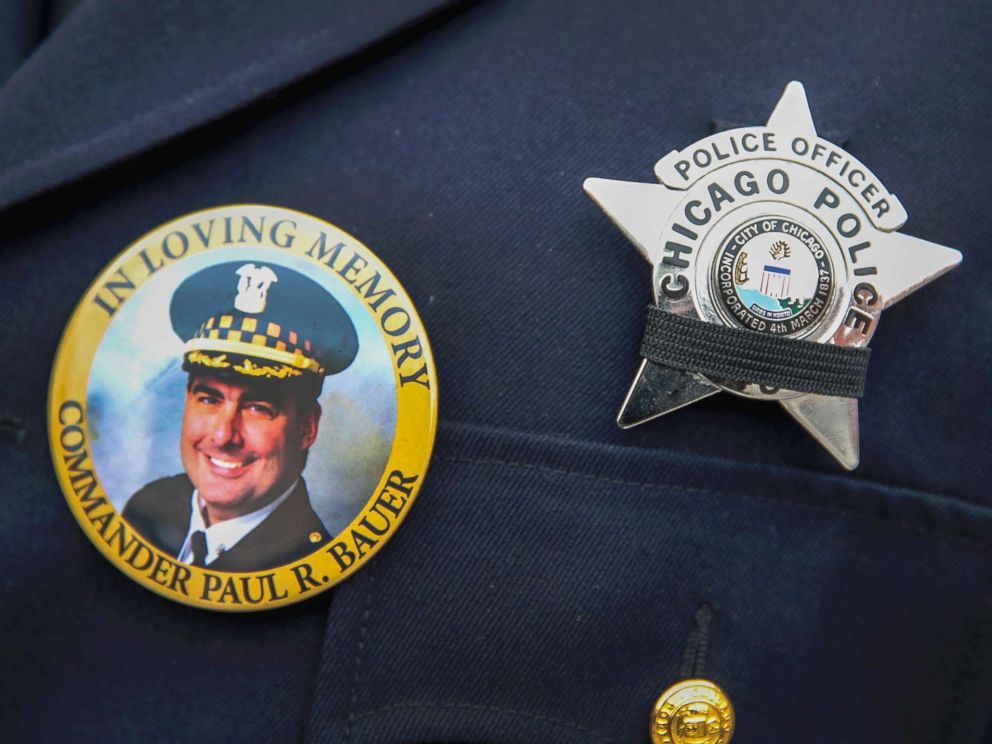
[[[0,88],[0,209],[446,17],[456,0],[84,3]]]

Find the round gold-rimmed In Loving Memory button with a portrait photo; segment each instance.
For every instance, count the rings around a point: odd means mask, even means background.
[[[104,556],[169,599],[258,610],[346,579],[405,519],[437,382],[368,247],[237,205],[110,262],[66,327],[48,414],[62,490]]]

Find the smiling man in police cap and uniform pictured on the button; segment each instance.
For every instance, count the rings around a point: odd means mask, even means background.
[[[141,488],[124,518],[161,550],[212,570],[264,570],[319,549],[331,535],[302,472],[324,377],[358,352],[351,319],[313,280],[258,262],[193,274],[169,315],[188,373],[185,472]]]

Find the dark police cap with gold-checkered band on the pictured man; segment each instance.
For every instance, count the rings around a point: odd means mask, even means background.
[[[320,382],[358,353],[351,318],[317,282],[264,263],[211,266],[172,295],[183,369],[234,379]]]

